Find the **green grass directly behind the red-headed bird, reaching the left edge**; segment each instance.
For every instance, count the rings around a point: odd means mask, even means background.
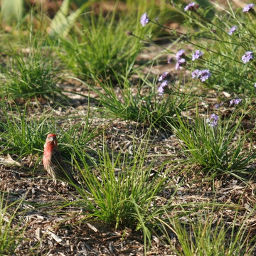
[[[1,103],[1,154],[16,154],[19,157],[41,154],[47,134],[55,133],[58,135],[62,156],[70,159],[74,154],[70,144],[87,149],[87,142],[101,132],[97,131],[97,127],[91,129],[89,110],[87,116],[77,117],[78,120],[70,125],[69,122],[60,124],[60,120],[53,116],[53,111],[43,113],[39,118],[36,114],[29,114],[29,102],[24,109],[21,109],[15,100]]]

